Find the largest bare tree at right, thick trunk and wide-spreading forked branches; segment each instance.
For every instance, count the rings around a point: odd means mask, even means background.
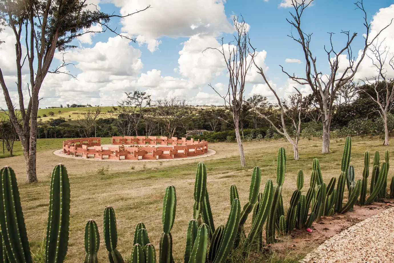
[[[335,101],[336,94],[338,90],[346,85],[355,75],[359,65],[365,57],[365,53],[368,50],[368,47],[379,37],[381,32],[385,30],[390,24],[385,26],[382,30],[377,32],[377,34],[370,37],[370,26],[367,20],[367,13],[364,9],[364,6],[361,2],[356,2],[356,9],[360,9],[364,15],[364,26],[366,29],[364,36],[364,47],[361,51],[361,56],[358,61],[353,57],[351,43],[357,36],[357,33],[350,34],[349,31],[342,31],[341,33],[347,36],[346,44],[340,50],[335,50],[333,44],[333,35],[334,33],[329,33],[330,35],[330,45],[329,47],[324,47],[325,52],[327,53],[327,59],[330,65],[330,73],[323,74],[321,71],[317,69],[316,66],[316,57],[312,54],[312,50],[310,48],[312,34],[307,34],[303,31],[301,26],[301,18],[302,15],[307,9],[308,6],[314,0],[292,0],[292,6],[294,7],[294,12],[290,12],[292,16],[292,20],[287,20],[288,23],[292,25],[294,29],[297,31],[297,36],[294,36],[293,33],[288,35],[294,41],[299,43],[303,49],[303,54],[305,57],[305,77],[299,77],[295,74],[290,75],[286,71],[284,71],[282,67],[282,72],[286,73],[289,78],[296,81],[302,85],[309,85],[312,89],[313,93],[316,95],[318,99],[318,105],[320,112],[322,113],[322,124],[323,124],[323,143],[322,143],[322,153],[329,152],[330,145],[330,125],[331,119],[333,116],[333,104]],[[348,65],[346,68],[340,68],[339,62],[340,57],[348,56]],[[342,58],[343,59],[343,58]]]

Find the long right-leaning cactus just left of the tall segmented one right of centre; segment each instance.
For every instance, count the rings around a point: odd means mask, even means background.
[[[253,220],[252,228],[247,237],[246,244],[250,246],[257,246],[258,248],[262,245],[262,228],[269,215],[272,205],[272,197],[273,183],[271,179],[268,179],[264,188],[264,194],[262,194],[260,202],[258,203],[257,214],[255,216],[255,220]]]

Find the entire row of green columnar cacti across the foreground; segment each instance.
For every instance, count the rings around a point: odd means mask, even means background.
[[[209,196],[207,191],[207,173],[203,162],[197,165],[194,187],[193,218],[188,222],[186,231],[185,263],[225,263],[234,247],[243,244],[243,251],[262,251],[263,226],[266,223],[266,242],[277,241],[277,235],[288,235],[294,228],[310,228],[313,222],[319,222],[323,216],[335,212],[346,213],[359,200],[360,205],[372,203],[377,198],[387,197],[387,178],[389,169],[389,151],[385,152],[385,162],[379,163],[379,152],[375,152],[370,195],[367,198],[370,154],[364,154],[362,179],[355,181],[355,172],[350,162],[351,140],[346,138],[342,156],[341,174],[332,177],[328,184],[323,181],[318,159],[312,162],[309,189],[306,194],[301,190],[304,174],[297,175],[297,189],[290,198],[288,210],[284,211],[282,186],[286,175],[286,153],[279,149],[277,159],[277,180],[268,179],[264,191],[260,192],[261,171],[255,167],[251,176],[249,199],[241,209],[240,197],[235,185],[230,187],[230,213],[225,226],[214,227]],[[380,166],[380,167],[379,167]],[[2,181],[0,198],[1,262],[32,263],[26,227],[20,204],[19,190],[14,171],[10,167],[0,170]],[[343,205],[345,182],[348,187],[348,201]],[[337,185],[336,185],[337,184]],[[336,189],[335,189],[336,185]],[[360,198],[359,198],[360,197]],[[390,183],[390,197],[394,198],[394,176]],[[174,263],[173,239],[171,229],[175,222],[177,196],[174,186],[165,190],[163,198],[162,227],[158,262]],[[243,226],[252,214],[249,233]],[[61,263],[64,261],[69,240],[70,218],[70,183],[67,170],[61,164],[55,166],[50,183],[50,202],[48,225],[45,239],[45,262]],[[104,209],[103,237],[110,263],[124,263],[123,256],[117,250],[117,224],[113,207]],[[242,242],[243,241],[243,242]],[[100,235],[97,224],[89,220],[85,226],[84,263],[98,263],[97,253]],[[151,244],[145,224],[139,222],[134,232],[130,263],[156,263],[156,250]]]

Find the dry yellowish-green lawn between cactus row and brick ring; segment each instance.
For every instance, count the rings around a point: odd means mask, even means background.
[[[394,143],[394,142],[392,142]],[[365,150],[371,152],[385,150],[381,141],[374,139],[353,140],[351,164],[355,166],[357,179],[362,176],[363,155]],[[319,145],[319,147],[313,147]],[[186,227],[193,214],[193,186],[197,162],[204,161],[208,169],[208,192],[216,226],[225,224],[230,210],[229,187],[236,184],[240,194],[241,205],[249,195],[250,176],[253,167],[262,169],[262,186],[268,178],[275,179],[276,157],[279,147],[287,152],[287,173],[283,187],[283,199],[286,204],[296,188],[296,175],[299,169],[305,174],[305,185],[309,184],[312,159],[319,158],[323,178],[329,181],[340,173],[340,160],[344,141],[332,142],[332,153],[321,154],[320,141],[303,140],[300,142],[300,160],[292,160],[292,148],[285,141],[248,142],[245,143],[248,167],[239,165],[236,144],[216,143],[210,148],[216,155],[203,159],[175,160],[171,162],[92,162],[58,157],[52,154],[60,148],[59,144],[50,151],[42,151],[37,157],[39,183],[28,185],[24,177],[24,159],[22,156],[0,159],[0,165],[9,165],[17,173],[22,207],[28,230],[32,252],[40,255],[41,244],[46,230],[49,199],[49,179],[54,165],[65,164],[71,182],[71,218],[70,241],[66,262],[81,262],[84,259],[84,227],[88,219],[94,219],[102,235],[102,214],[107,205],[112,205],[117,216],[118,250],[125,259],[131,254],[134,229],[138,222],[144,222],[151,242],[158,249],[162,232],[162,198],[165,188],[174,185],[177,190],[177,216],[173,230],[173,250],[175,261],[182,261],[186,243]],[[146,164],[146,168],[143,168]],[[108,172],[106,168],[109,168]],[[134,169],[131,168],[134,166]],[[105,169],[101,169],[105,167]],[[102,172],[104,170],[104,172]],[[304,191],[306,191],[304,189]],[[346,195],[345,195],[346,196]],[[249,218],[250,220],[250,218]],[[250,221],[245,224],[249,231]],[[293,262],[300,254],[309,251],[292,252],[283,262]],[[275,256],[264,260],[275,262]],[[294,260],[293,260],[294,259]],[[101,240],[99,261],[106,262],[106,250]],[[260,260],[259,260],[260,262]]]

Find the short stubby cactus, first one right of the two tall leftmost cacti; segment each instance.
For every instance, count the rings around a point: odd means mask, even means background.
[[[99,252],[100,234],[97,224],[89,220],[85,227],[85,261],[84,263],[98,263],[97,252]]]

